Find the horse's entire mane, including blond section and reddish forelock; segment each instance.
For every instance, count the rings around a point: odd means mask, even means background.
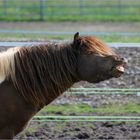
[[[11,80],[27,102],[45,105],[79,80],[75,74],[76,51],[114,54],[95,37],[79,36],[78,42],[17,47],[2,52],[0,80]]]

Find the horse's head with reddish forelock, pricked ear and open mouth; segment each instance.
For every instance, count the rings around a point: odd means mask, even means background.
[[[77,74],[80,80],[97,83],[124,73],[125,59],[96,37],[76,33],[73,47],[78,54]]]

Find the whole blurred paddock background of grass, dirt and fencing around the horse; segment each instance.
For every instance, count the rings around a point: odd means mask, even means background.
[[[128,60],[125,74],[80,82],[15,139],[140,139],[140,0],[0,0],[0,50],[94,35]]]

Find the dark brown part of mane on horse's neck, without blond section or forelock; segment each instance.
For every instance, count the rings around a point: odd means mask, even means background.
[[[44,105],[76,80],[76,56],[70,45],[65,45],[22,47],[15,54],[13,81],[26,100]]]

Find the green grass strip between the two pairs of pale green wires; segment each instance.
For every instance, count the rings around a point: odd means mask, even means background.
[[[63,105],[48,105],[38,115],[42,113],[55,114],[61,112],[62,114],[76,114],[76,113],[109,113],[109,114],[125,114],[125,113],[140,113],[140,104],[109,104],[101,105],[97,108],[88,104],[63,104]]]

